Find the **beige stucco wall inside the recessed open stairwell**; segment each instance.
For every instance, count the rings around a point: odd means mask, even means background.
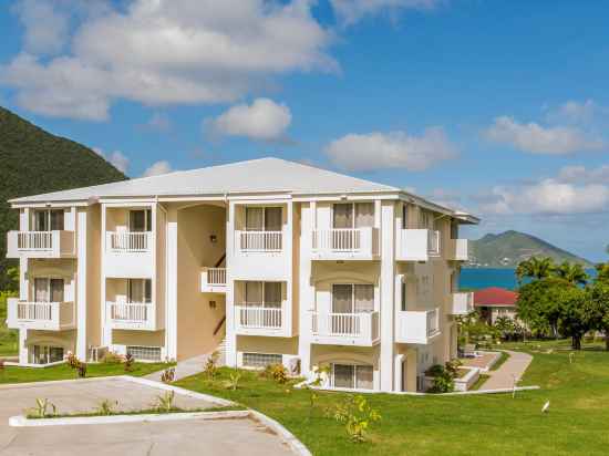
[[[214,330],[226,314],[225,297],[202,293],[200,272],[225,255],[226,210],[210,205],[179,209],[177,237],[177,357],[183,360],[215,350],[224,339],[224,328],[216,335]]]

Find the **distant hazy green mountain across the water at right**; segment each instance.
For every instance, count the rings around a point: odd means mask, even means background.
[[[514,230],[499,235],[486,235],[469,242],[469,266],[515,268],[520,261],[530,257],[550,257],[555,262],[566,260],[592,267],[592,263],[584,258],[535,236]]]

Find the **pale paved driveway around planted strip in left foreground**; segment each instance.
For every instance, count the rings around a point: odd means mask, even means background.
[[[257,422],[184,419],[171,422],[10,427],[8,419],[47,397],[60,413],[91,411],[103,398],[124,410],[142,408],[163,391],[120,379],[0,387],[0,455],[293,455],[281,439]],[[200,398],[177,395],[184,408],[208,407]]]

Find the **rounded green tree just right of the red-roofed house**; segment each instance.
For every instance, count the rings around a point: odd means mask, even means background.
[[[534,280],[518,290],[517,313],[538,336],[558,336],[559,302],[561,292],[575,288],[566,280],[548,277]]]

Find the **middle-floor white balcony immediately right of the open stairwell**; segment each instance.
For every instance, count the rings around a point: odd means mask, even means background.
[[[283,335],[286,324],[281,307],[235,305],[235,330],[241,335]]]

